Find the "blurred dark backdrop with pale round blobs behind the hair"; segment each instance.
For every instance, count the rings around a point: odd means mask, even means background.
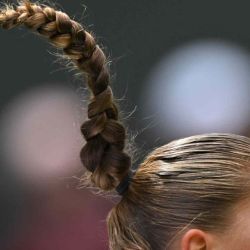
[[[173,139],[250,136],[249,1],[50,2],[94,31],[111,58],[134,167]],[[0,44],[1,249],[108,249],[115,200],[74,178],[84,83],[25,29],[0,30]]]

